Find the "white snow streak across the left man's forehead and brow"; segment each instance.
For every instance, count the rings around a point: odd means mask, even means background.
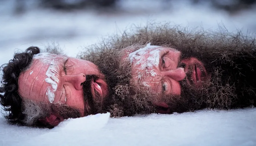
[[[58,78],[58,64],[57,64],[57,59],[58,55],[55,54],[50,54],[50,53],[39,53],[34,55],[34,59],[39,59],[41,62],[45,64],[50,64],[49,68],[47,69],[45,73],[45,82],[49,84],[49,87],[47,88],[47,91],[45,95],[48,97],[49,102],[53,103],[54,98],[55,98],[55,91],[57,90],[57,86],[59,83],[59,78]],[[31,71],[33,73],[33,71]]]

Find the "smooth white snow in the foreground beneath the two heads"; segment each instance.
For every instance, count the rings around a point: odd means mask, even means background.
[[[0,145],[255,146],[255,121],[256,108],[122,118],[98,114],[53,129],[8,125],[0,118]]]

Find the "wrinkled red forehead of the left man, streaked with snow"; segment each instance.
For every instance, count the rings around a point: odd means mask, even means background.
[[[67,60],[67,56],[64,55],[35,54],[31,66],[21,72],[19,76],[19,94],[32,100],[38,100],[39,97],[46,95],[49,102],[52,103],[59,82],[60,67],[63,66],[65,60]],[[43,85],[45,85],[45,88],[47,87],[47,92]]]

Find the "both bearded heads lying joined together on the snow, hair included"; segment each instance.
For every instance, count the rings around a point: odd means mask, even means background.
[[[255,49],[255,41],[240,34],[167,25],[93,45],[80,54],[84,60],[30,47],[1,69],[1,104],[8,121],[47,127],[105,112],[117,117],[255,105]]]

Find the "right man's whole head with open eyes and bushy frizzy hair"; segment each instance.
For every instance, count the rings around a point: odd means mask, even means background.
[[[115,64],[119,72],[129,73],[128,84],[137,85],[132,92],[147,92],[147,100],[159,113],[256,105],[254,38],[225,30],[153,26],[113,37],[80,57],[98,66]],[[102,60],[108,61],[102,64]]]

